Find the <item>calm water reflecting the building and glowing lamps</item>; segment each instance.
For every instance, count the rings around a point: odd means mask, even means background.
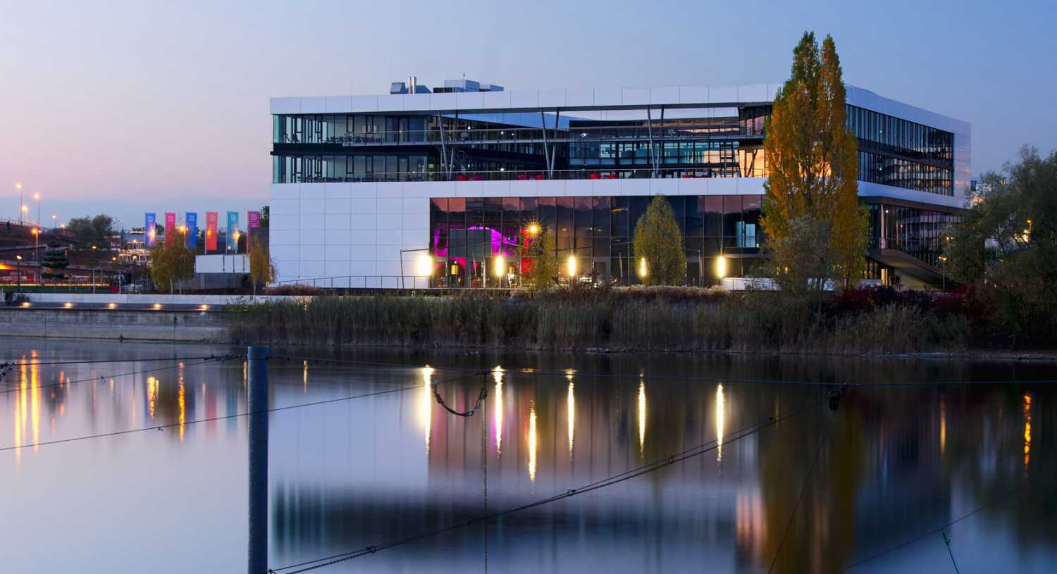
[[[0,339],[0,362],[150,358],[220,346]],[[242,350],[242,349],[234,349]],[[281,352],[275,349],[274,352]],[[323,355],[326,350],[300,354]],[[720,447],[613,486],[508,515],[487,529],[495,572],[766,572],[827,433],[776,571],[833,572],[950,522],[962,572],[1057,570],[1057,386],[852,389],[777,427],[826,391],[798,384],[1057,378],[1040,364],[679,355],[357,352],[438,369],[273,360],[272,405],[411,386],[275,412],[270,566],[384,543],[483,511],[581,487],[691,446]],[[244,572],[246,420],[241,360],[118,376],[169,363],[16,369],[0,383],[0,560],[5,572]],[[487,375],[441,367],[494,369]],[[515,372],[532,367],[559,374]],[[560,374],[567,373],[567,374]],[[627,374],[591,377],[585,373]],[[641,376],[642,375],[642,376]],[[669,377],[704,377],[679,381]],[[467,408],[463,419],[424,384]],[[80,383],[70,383],[91,378]],[[184,424],[181,426],[180,423]],[[57,439],[174,424],[63,444]],[[482,424],[485,428],[482,428]],[[34,446],[37,444],[37,446]],[[317,572],[483,571],[482,526]],[[852,572],[948,572],[940,534]]]

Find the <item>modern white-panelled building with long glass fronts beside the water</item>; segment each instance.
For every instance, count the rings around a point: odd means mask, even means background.
[[[376,96],[272,99],[272,254],[279,282],[334,288],[517,285],[537,226],[562,275],[628,284],[653,196],[672,204],[686,282],[759,258],[777,84],[514,90],[449,80]],[[969,125],[848,87],[869,206],[869,274],[940,281],[966,204]]]

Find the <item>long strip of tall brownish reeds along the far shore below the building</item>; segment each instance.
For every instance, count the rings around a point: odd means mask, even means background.
[[[909,305],[828,316],[774,294],[629,291],[316,297],[246,305],[228,328],[240,342],[612,351],[886,354],[957,351],[971,338],[964,317]]]

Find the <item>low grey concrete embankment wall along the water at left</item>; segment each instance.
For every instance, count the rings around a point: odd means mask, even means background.
[[[217,312],[0,308],[0,336],[224,341]]]

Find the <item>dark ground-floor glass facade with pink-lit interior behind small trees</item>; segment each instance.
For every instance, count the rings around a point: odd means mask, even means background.
[[[635,222],[652,197],[434,198],[430,200],[433,286],[518,285],[532,267],[525,255],[539,224],[555,237],[568,278],[569,259],[582,280],[638,282],[631,247]],[[712,284],[716,257],[740,276],[758,257],[763,196],[669,196],[686,248],[688,284]],[[501,265],[502,271],[497,271]]]

